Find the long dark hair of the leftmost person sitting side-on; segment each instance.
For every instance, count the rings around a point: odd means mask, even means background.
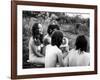
[[[33,39],[39,39],[41,43],[43,42],[43,34],[39,33],[39,23],[32,26],[32,37]]]

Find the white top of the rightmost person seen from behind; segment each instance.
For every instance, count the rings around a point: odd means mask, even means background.
[[[79,53],[78,50],[71,50],[64,59],[65,66],[89,66],[90,54],[86,52]]]

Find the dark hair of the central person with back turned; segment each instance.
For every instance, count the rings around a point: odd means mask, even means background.
[[[54,31],[51,36],[51,45],[60,47],[63,39],[63,33],[60,30]]]

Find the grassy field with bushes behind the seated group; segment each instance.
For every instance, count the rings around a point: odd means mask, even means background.
[[[48,15],[49,14],[49,15]],[[47,33],[48,25],[51,23],[52,19],[57,21],[60,29],[63,31],[64,36],[69,39],[69,48],[74,48],[74,43],[76,37],[79,34],[84,34],[87,38],[89,44],[89,18],[81,18],[76,15],[74,17],[70,17],[68,15],[62,13],[48,13],[45,12],[23,12],[23,68],[38,68],[40,65],[28,63],[28,43],[31,37],[31,28],[35,22],[40,22],[43,25],[44,35]],[[37,16],[39,15],[39,16]],[[87,52],[89,52],[89,46],[87,48]]]

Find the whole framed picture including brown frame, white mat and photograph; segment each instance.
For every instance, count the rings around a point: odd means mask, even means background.
[[[14,78],[97,73],[96,6],[30,1],[12,6]]]

